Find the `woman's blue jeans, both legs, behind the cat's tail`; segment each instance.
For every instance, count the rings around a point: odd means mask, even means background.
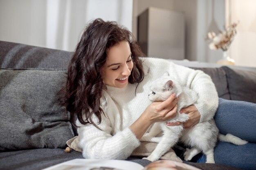
[[[214,119],[223,135],[231,133],[249,141],[242,146],[218,142],[214,149],[215,162],[244,170],[256,170],[256,104],[220,98]],[[198,155],[197,162],[205,163],[206,156]]]

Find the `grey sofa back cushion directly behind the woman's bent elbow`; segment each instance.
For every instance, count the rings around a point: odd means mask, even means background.
[[[216,86],[218,96],[223,99],[230,100],[229,89],[227,85],[227,76],[223,68],[193,68],[195,70],[202,70],[208,74]]]

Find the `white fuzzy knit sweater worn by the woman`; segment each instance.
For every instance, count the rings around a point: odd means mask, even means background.
[[[137,84],[126,88],[107,86],[101,98],[101,108],[106,117],[102,117],[97,129],[91,124],[78,128],[79,146],[83,149],[83,157],[90,159],[126,159],[140,144],[129,126],[138,119],[151,103],[148,99],[150,84],[166,71],[170,77],[179,81],[198,93],[195,104],[201,118],[200,122],[212,119],[218,107],[218,94],[209,75],[202,71],[179,66],[163,59],[143,58],[145,77]],[[94,117],[97,122],[97,119]]]

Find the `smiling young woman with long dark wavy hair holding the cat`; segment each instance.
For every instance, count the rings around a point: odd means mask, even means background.
[[[78,126],[83,157],[126,159],[139,146],[139,139],[151,124],[175,116],[178,100],[175,94],[164,102],[151,103],[148,99],[150,84],[166,71],[198,93],[198,102],[181,110],[189,114],[185,128],[212,119],[216,114],[220,132],[225,134],[232,128],[240,128],[232,134],[256,142],[256,104],[219,100],[211,78],[202,71],[141,56],[144,55],[132,33],[116,22],[96,19],[85,29],[67,71],[67,84],[61,91],[61,104]],[[229,108],[235,108],[236,113],[231,113]],[[250,119],[240,115],[245,112]],[[238,116],[242,120],[236,124]],[[225,123],[227,120],[231,125]],[[177,124],[180,123],[167,126]],[[255,143],[238,147],[223,142],[215,149],[215,160],[249,169],[256,166],[255,153]],[[204,155],[197,161],[205,162]]]

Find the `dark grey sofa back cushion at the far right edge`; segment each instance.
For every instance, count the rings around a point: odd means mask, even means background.
[[[222,68],[227,74],[231,100],[256,103],[256,72]]]

